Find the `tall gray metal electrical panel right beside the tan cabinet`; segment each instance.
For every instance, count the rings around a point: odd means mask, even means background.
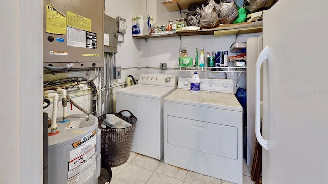
[[[117,53],[117,20],[104,15],[104,52]]]

